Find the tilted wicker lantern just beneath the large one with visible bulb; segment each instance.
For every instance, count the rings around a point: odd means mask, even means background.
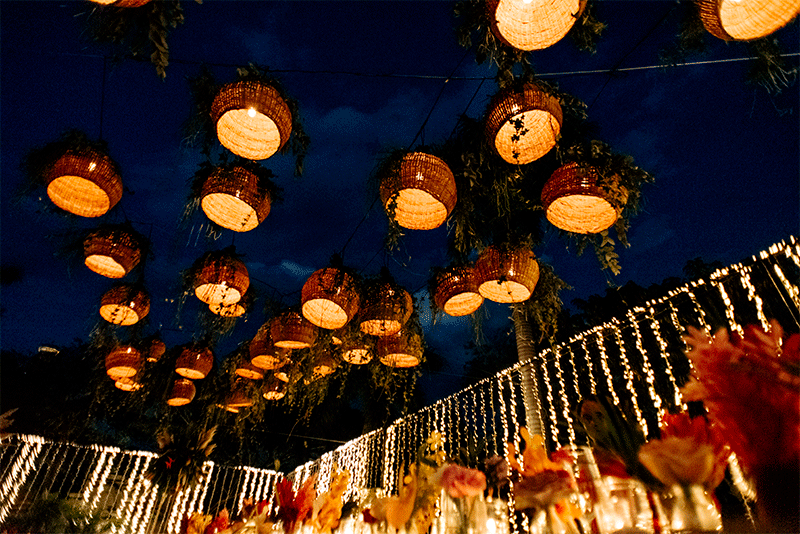
[[[206,216],[229,230],[247,232],[267,218],[269,191],[244,167],[220,167],[203,183],[200,206]]]

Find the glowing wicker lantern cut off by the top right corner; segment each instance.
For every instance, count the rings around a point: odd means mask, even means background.
[[[698,0],[697,6],[706,30],[726,41],[766,37],[800,13],[800,0]]]

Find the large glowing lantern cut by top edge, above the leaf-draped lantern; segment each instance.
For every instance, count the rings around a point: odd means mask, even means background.
[[[581,0],[487,0],[486,6],[495,37],[525,51],[556,44],[582,9]]]

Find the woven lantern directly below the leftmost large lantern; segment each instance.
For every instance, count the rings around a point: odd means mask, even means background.
[[[122,278],[139,264],[141,248],[134,233],[122,228],[103,228],[84,239],[84,263],[107,278]]]

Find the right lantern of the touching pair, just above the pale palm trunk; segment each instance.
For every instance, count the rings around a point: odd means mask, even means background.
[[[539,264],[526,248],[501,250],[490,246],[475,263],[478,292],[494,302],[528,300],[539,281]]]

